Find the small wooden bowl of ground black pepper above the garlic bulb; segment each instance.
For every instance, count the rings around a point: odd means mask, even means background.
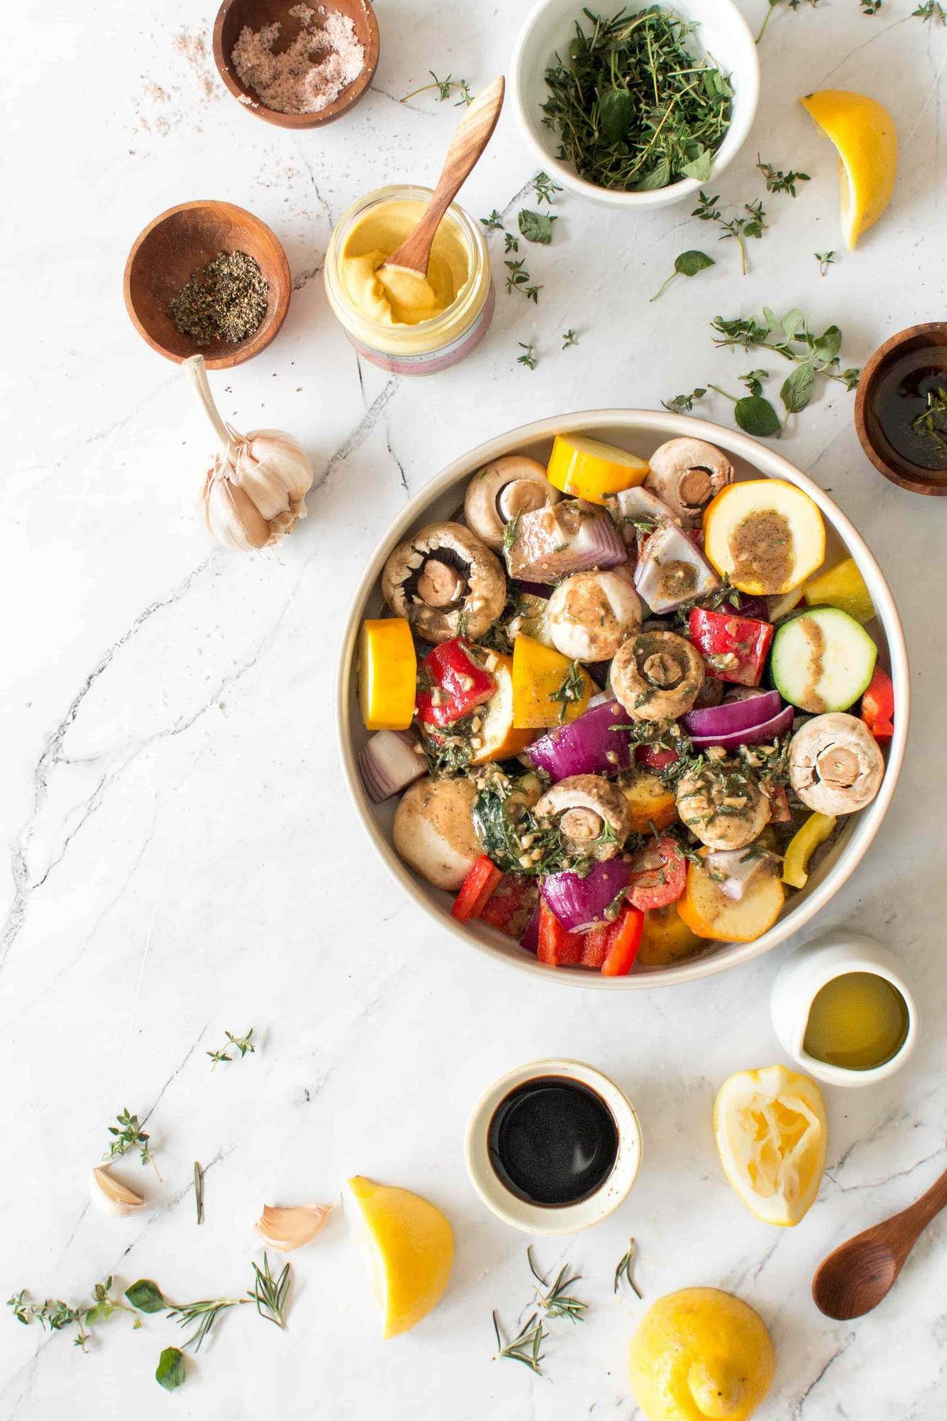
[[[189,313],[188,306],[195,303],[188,298],[200,286],[200,273],[220,253],[252,257],[259,277],[240,263],[237,280],[220,281],[216,306],[206,300],[202,307],[209,310]],[[270,344],[286,320],[293,280],[277,237],[252,212],[232,202],[182,202],[149,222],[135,239],[124,288],[132,325],[159,355],[178,362],[203,355],[208,369],[229,369]],[[253,324],[257,317],[259,324]],[[186,327],[198,335],[188,334]],[[215,334],[246,327],[247,333],[236,338]]]

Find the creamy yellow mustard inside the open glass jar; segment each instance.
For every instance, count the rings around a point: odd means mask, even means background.
[[[365,320],[418,325],[454,306],[469,280],[466,246],[448,216],[434,237],[427,280],[408,267],[384,263],[417,227],[422,202],[385,202],[355,222],[343,244],[338,273],[348,300]]]

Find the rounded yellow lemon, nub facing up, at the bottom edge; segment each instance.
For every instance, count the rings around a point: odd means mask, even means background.
[[[747,1421],[775,1370],[759,1313],[718,1287],[658,1297],[628,1350],[631,1388],[648,1421]]]

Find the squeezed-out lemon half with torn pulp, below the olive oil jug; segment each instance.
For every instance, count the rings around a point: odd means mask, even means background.
[[[714,1103],[714,1137],[729,1184],[764,1223],[798,1223],[819,1192],[828,1124],[808,1076],[785,1066],[741,1070]]]

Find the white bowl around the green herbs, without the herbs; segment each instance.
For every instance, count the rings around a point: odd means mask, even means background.
[[[616,14],[620,9],[616,0],[601,13]],[[628,6],[630,13],[638,9],[646,9],[644,0],[640,6]],[[708,179],[712,183],[737,156],[752,126],[759,101],[759,54],[749,26],[732,0],[671,0],[667,9],[681,20],[697,21],[698,28],[690,41],[692,50],[704,55],[712,54],[719,68],[729,74],[734,88],[732,118],[724,142],[714,155]],[[569,41],[576,33],[576,20],[582,21],[587,34],[592,26],[583,11],[582,0],[539,0],[523,20],[513,45],[510,61],[513,112],[536,162],[542,163],[560,186],[610,207],[643,212],[692,198],[707,183],[700,183],[695,178],[681,178],[667,188],[656,188],[651,192],[619,192],[587,182],[579,176],[572,163],[556,156],[559,136],[552,128],[546,128],[542,112],[542,105],[549,98],[546,70],[555,61],[556,53],[560,55],[567,53]]]

